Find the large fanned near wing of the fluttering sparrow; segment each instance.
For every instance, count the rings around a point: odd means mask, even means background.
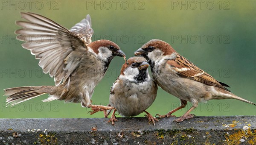
[[[17,21],[23,27],[15,31],[22,47],[31,51],[44,73],[54,77],[55,85],[66,81],[78,67],[87,47],[77,34],[56,22],[34,13],[21,13],[28,21]]]

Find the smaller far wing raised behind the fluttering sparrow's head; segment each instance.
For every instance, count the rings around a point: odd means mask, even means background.
[[[92,42],[93,29],[90,15],[87,14],[86,18],[74,25],[70,31],[85,39],[86,44]]]

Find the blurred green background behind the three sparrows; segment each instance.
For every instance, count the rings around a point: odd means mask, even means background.
[[[30,4],[30,5],[29,5]],[[96,6],[96,7],[95,7]],[[54,85],[53,78],[42,74],[38,60],[15,40],[19,29],[15,20],[20,12],[41,14],[66,28],[71,28],[90,14],[94,30],[93,41],[110,39],[127,55],[150,39],[162,39],[230,90],[256,103],[256,1],[1,1],[0,10],[0,118],[40,117],[103,117],[80,103],[64,101],[41,102],[43,95],[5,108],[3,89],[15,86]],[[108,104],[112,83],[120,73],[124,60],[116,57],[107,76],[96,86],[92,100]],[[117,74],[115,74],[117,72]],[[158,89],[155,102],[147,109],[154,114],[166,114],[179,106],[179,99]],[[177,111],[180,116],[191,107]],[[200,103],[197,116],[256,115],[256,106],[239,100],[211,100]],[[144,116],[144,113],[139,115]],[[119,116],[118,116],[119,117]]]

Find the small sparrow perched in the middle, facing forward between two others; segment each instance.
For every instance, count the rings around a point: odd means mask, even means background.
[[[155,120],[158,121],[145,111],[157,96],[157,84],[150,78],[148,66],[143,57],[131,57],[122,65],[121,73],[111,87],[109,96],[110,105],[115,107],[109,120],[113,125],[118,121],[115,117],[116,111],[124,117],[145,112],[148,123],[152,121],[155,125]]]

